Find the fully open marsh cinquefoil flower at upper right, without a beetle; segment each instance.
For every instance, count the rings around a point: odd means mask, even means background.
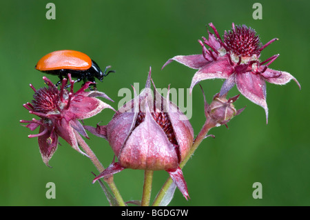
[[[178,61],[189,68],[198,69],[192,79],[191,91],[202,80],[226,79],[220,89],[220,96],[236,84],[242,95],[265,109],[268,119],[265,81],[283,85],[293,79],[300,87],[298,81],[288,72],[269,68],[279,54],[265,61],[259,59],[260,52],[278,39],[272,39],[262,46],[255,30],[245,25],[235,26],[233,23],[231,30],[225,31],[222,40],[214,25],[209,23],[209,26],[214,30],[215,36],[208,30],[209,39],[203,37],[203,41],[199,40],[203,54],[176,56],[169,59],[163,67],[172,61]]]

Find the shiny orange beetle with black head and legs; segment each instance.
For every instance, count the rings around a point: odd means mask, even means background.
[[[102,72],[95,61],[90,59],[90,57],[83,52],[75,50],[57,50],[50,52],[39,60],[35,68],[41,72],[58,75],[60,80],[56,83],[56,86],[61,83],[63,77],[68,77],[68,73],[71,74],[72,78],[76,78],[74,83],[82,79],[84,82],[92,81],[95,83],[95,78],[102,81],[103,77],[106,77],[107,74],[115,72],[114,70],[110,70],[105,74],[110,66],[107,66],[105,71]],[[96,84],[94,84],[94,89],[96,89]]]

